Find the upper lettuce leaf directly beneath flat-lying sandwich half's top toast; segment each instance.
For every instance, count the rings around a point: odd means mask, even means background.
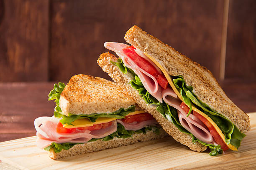
[[[75,120],[84,119],[84,118],[89,119],[91,122],[95,122],[98,117],[111,117],[111,118],[123,119],[130,112],[135,112],[135,106],[131,105],[126,109],[120,108],[119,110],[111,113],[93,113],[90,115],[73,115],[69,113],[68,116],[63,115],[61,108],[59,107],[59,98],[60,98],[61,92],[64,90],[64,87],[65,85],[59,82],[59,85],[55,84],[54,89],[51,90],[51,92],[48,95],[49,96],[48,100],[55,99],[54,102],[56,102],[56,107],[54,108],[54,116],[57,118],[62,117],[62,119],[60,120],[62,124],[67,123],[72,125],[72,122],[74,122]]]

